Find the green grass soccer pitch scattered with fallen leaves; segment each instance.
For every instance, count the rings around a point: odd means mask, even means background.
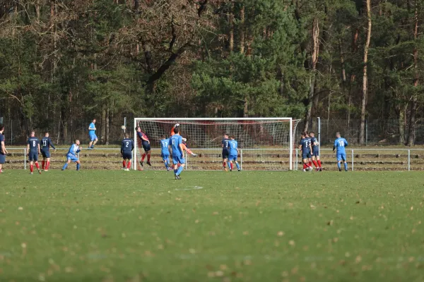
[[[0,175],[0,281],[424,281],[420,172]]]

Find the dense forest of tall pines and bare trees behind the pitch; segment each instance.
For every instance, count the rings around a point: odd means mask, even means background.
[[[0,118],[424,118],[424,0],[4,0]]]

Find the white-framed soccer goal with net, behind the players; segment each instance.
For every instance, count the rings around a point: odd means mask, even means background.
[[[148,169],[164,169],[160,157],[160,139],[170,137],[170,130],[179,123],[179,133],[187,138],[187,147],[197,157],[186,154],[188,170],[223,169],[223,134],[238,141],[238,162],[245,171],[289,171],[295,156],[295,128],[292,118],[134,118],[134,128],[141,127],[151,142],[151,163]],[[133,168],[141,170],[144,153],[141,140],[134,133]]]

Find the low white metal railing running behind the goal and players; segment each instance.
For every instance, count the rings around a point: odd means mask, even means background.
[[[8,150],[9,153],[13,153],[13,152],[22,152],[23,153],[23,168],[26,169],[27,168],[27,149],[26,148],[6,148]],[[68,151],[69,148],[56,148],[57,151],[63,152],[63,157],[65,157],[66,152]],[[100,149],[102,152],[104,151],[110,151],[113,152],[114,154],[119,154],[120,153],[120,149],[119,148],[102,148]],[[201,148],[193,148],[194,151],[199,150],[199,151],[216,151],[217,154],[219,154],[219,152],[221,151],[220,148],[208,148],[208,149],[201,149]],[[82,154],[86,153],[86,152],[90,152],[90,153],[95,153],[97,150],[88,150],[88,149],[83,149],[83,151],[81,151]],[[274,148],[274,149],[240,149],[240,159],[239,159],[239,163],[241,168],[243,167],[243,152],[249,152],[249,151],[281,151],[281,152],[287,152],[287,154],[290,153],[289,149],[278,149],[278,148]],[[332,153],[332,149],[329,148],[322,148],[320,149],[320,154],[333,154]],[[153,154],[160,154],[160,148],[152,148],[152,152]],[[381,153],[380,153],[381,152]],[[355,157],[355,154],[375,154],[375,155],[381,155],[384,156],[384,153],[387,154],[387,152],[392,152],[391,154],[395,155],[395,158],[399,158],[399,159],[406,159],[407,158],[407,171],[411,171],[411,154],[424,154],[424,149],[380,149],[380,148],[374,148],[374,149],[363,149],[363,148],[354,148],[354,149],[346,149],[346,157],[347,157],[347,161],[348,164],[350,164],[350,169],[352,171],[355,170],[355,161],[356,159],[358,159],[357,157]],[[133,155],[136,152],[133,152]],[[79,157],[79,156],[78,156]],[[40,155],[39,159],[42,159],[42,156]],[[192,159],[192,157],[186,156],[186,161],[187,161],[187,169],[190,168],[190,160]],[[360,158],[361,159],[361,158]],[[64,159],[65,161],[65,159]],[[294,161],[294,166],[293,166],[293,170],[297,171],[300,169],[299,164],[301,164],[302,161],[302,156],[301,156],[301,152],[300,149],[295,149],[295,158],[293,159]],[[332,157],[331,159],[329,159],[328,157],[325,157],[323,159],[323,161],[325,162],[326,166],[329,165],[335,165],[336,164],[336,158]],[[424,166],[424,165],[423,165]]]

